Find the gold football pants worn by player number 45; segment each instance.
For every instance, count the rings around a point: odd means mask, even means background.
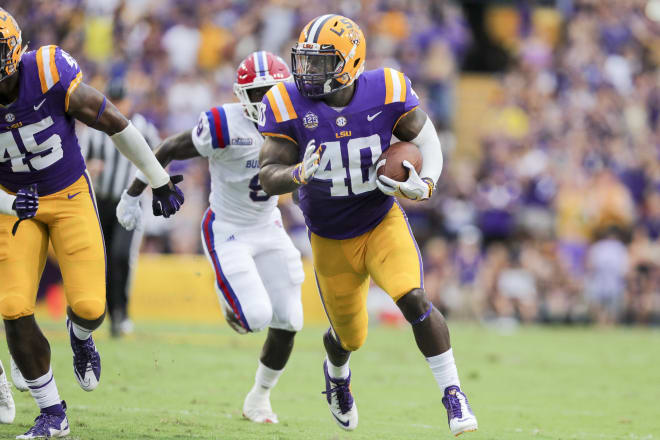
[[[62,271],[73,312],[94,320],[105,311],[105,248],[87,173],[69,187],[39,197],[37,215],[21,222],[0,214],[0,314],[18,319],[34,313],[48,240]]]

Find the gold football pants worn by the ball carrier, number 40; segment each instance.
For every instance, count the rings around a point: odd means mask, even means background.
[[[423,287],[421,254],[397,203],[362,235],[333,240],[312,233],[310,240],[321,300],[346,350],[357,350],[367,338],[370,278],[394,301]]]

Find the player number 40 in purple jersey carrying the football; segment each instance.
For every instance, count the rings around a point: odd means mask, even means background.
[[[410,81],[394,69],[364,72],[366,42],[350,19],[312,20],[292,51],[295,84],[265,96],[259,179],[268,194],[300,188],[314,269],[331,328],[323,342],[327,403],[337,424],[357,427],[350,389],[352,351],[367,336],[369,280],[383,288],[411,323],[415,341],[443,392],[454,435],[477,429],[461,391],[442,314],[424,292],[419,249],[394,197],[428,199],[442,170],[440,141],[419,108]],[[405,182],[376,177],[393,136],[416,144],[419,173]]]

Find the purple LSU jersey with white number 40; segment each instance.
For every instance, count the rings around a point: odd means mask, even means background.
[[[332,239],[356,237],[373,229],[394,199],[376,186],[375,164],[390,146],[392,131],[419,105],[410,80],[394,69],[364,72],[351,102],[340,110],[303,97],[294,83],[280,83],[264,97],[259,131],[299,146],[325,144],[319,170],[300,188],[307,227]]]

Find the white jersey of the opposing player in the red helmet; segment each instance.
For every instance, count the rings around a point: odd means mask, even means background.
[[[192,141],[209,160],[209,203],[219,221],[255,226],[279,217],[277,196],[269,196],[259,184],[264,139],[244,116],[241,104],[224,104],[201,113]]]

